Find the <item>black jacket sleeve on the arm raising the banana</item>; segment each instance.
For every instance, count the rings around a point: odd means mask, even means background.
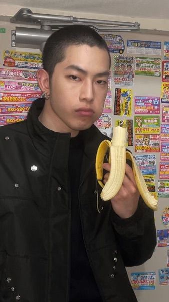
[[[125,266],[141,265],[156,246],[154,212],[140,197],[133,216],[122,219],[112,209],[111,222]]]

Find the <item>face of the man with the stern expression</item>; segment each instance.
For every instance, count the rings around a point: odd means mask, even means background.
[[[56,64],[50,82],[48,113],[58,132],[89,128],[101,115],[107,94],[109,56],[96,46],[72,45]]]

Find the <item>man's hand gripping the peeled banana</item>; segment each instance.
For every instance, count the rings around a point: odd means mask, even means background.
[[[104,163],[103,169],[108,173],[104,175],[104,184],[107,182],[110,171],[110,164]],[[131,217],[138,207],[140,193],[138,191],[132,168],[126,164],[125,176],[118,193],[111,199],[113,210],[121,218]]]

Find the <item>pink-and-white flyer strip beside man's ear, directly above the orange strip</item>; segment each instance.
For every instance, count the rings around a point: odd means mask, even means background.
[[[0,81],[0,91],[41,91],[38,83]]]

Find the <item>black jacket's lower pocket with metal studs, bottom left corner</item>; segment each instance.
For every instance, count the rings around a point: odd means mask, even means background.
[[[47,259],[7,254],[4,266],[1,302],[45,302]]]

